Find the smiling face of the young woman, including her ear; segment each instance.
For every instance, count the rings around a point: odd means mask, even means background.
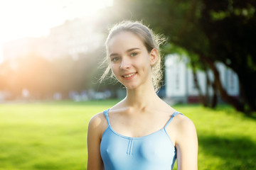
[[[111,69],[127,89],[151,83],[151,66],[156,60],[156,50],[146,50],[142,40],[127,31],[114,35],[108,42]]]

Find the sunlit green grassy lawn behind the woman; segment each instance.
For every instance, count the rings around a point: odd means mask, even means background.
[[[87,124],[114,103],[0,104],[0,170],[86,169]],[[196,125],[198,169],[256,169],[255,118],[228,106],[174,108]]]

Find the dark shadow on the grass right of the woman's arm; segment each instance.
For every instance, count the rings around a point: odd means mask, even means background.
[[[246,137],[198,137],[199,152],[220,157],[218,169],[256,169],[256,143]]]

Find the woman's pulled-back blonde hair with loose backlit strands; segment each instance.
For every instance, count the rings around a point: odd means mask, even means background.
[[[107,40],[105,42],[106,50],[110,39],[113,38],[114,35],[117,35],[118,33],[121,33],[123,31],[134,33],[135,35],[139,36],[142,42],[144,42],[144,45],[148,52],[151,52],[152,49],[157,50],[157,60],[156,63],[152,66],[151,79],[155,91],[159,91],[159,89],[161,88],[161,79],[163,77],[163,72],[161,70],[161,55],[159,45],[163,44],[166,39],[163,35],[155,35],[153,31],[147,26],[144,26],[142,22],[122,21],[121,23],[117,23],[110,29],[109,35],[107,36]],[[102,64],[107,64],[107,68],[102,74],[102,77],[100,77],[100,83],[102,83],[102,81],[108,76],[110,76],[110,78],[114,78],[114,74],[111,72],[110,67],[110,57],[108,57],[108,55],[105,57],[105,60]]]

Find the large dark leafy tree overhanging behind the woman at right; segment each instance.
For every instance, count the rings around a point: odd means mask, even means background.
[[[183,47],[194,63],[212,70],[220,96],[238,111],[256,111],[256,1],[116,0],[122,18],[143,20],[169,42]],[[113,6],[112,8],[116,8]],[[120,12],[121,11],[121,12]],[[132,14],[131,14],[132,13]],[[223,62],[238,74],[240,98],[229,96],[215,65]]]

